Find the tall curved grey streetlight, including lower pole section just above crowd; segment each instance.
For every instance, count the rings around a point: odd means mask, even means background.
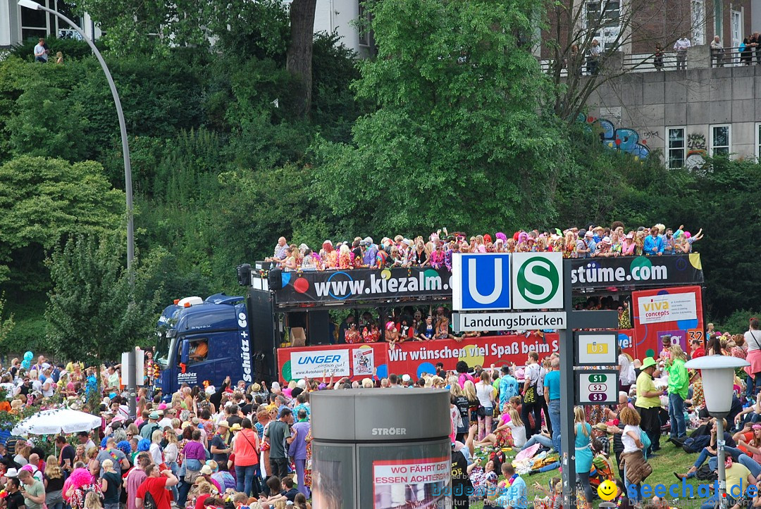
[[[119,92],[116,91],[116,84],[113,83],[111,72],[108,70],[108,65],[106,65],[106,61],[103,60],[103,56],[100,55],[100,51],[98,51],[93,41],[84,34],[84,31],[80,27],[78,27],[74,21],[68,19],[68,17],[65,17],[59,11],[55,11],[51,8],[47,8],[44,5],[40,5],[37,2],[34,2],[34,0],[18,0],[18,5],[21,5],[21,7],[25,7],[27,9],[32,9],[33,11],[49,12],[50,14],[53,14],[54,16],[61,18],[63,21],[71,25],[72,28],[74,30],[77,30],[79,35],[81,35],[84,42],[88,43],[88,46],[90,46],[90,49],[93,50],[93,53],[95,54],[95,58],[97,58],[97,61],[100,62],[100,67],[103,68],[103,73],[106,75],[108,86],[111,89],[111,95],[113,96],[113,103],[116,104],[116,116],[119,118],[119,133],[122,135],[122,154],[124,157],[124,192],[126,194],[126,200],[127,200],[127,274],[129,277],[130,286],[132,287],[135,282],[135,275],[132,273],[132,262],[135,259],[135,224],[133,221],[134,208],[132,206],[132,164],[129,161],[129,142],[127,140],[127,126],[124,123],[124,112],[122,111],[122,101],[119,100]],[[135,366],[134,348],[130,352],[130,362],[131,362],[130,365],[134,367]],[[129,387],[127,388],[129,392],[129,415],[134,416],[135,411],[137,409],[136,408],[137,407],[136,374],[129,374],[127,376],[127,380],[129,380]]]

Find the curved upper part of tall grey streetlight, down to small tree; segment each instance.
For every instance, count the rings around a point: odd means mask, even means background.
[[[127,272],[129,273],[130,280],[132,280],[132,260],[135,258],[135,233],[132,216],[134,209],[132,208],[132,164],[129,162],[129,143],[127,142],[127,126],[124,123],[124,113],[122,112],[122,101],[119,100],[119,93],[116,92],[116,85],[113,84],[113,78],[108,70],[106,62],[103,60],[103,56],[100,55],[100,51],[95,47],[94,43],[84,35],[84,31],[74,21],[68,19],[63,14],[53,9],[47,8],[44,5],[40,5],[34,0],[18,0],[18,5],[33,11],[46,11],[54,16],[60,17],[63,21],[70,24],[74,30],[77,30],[79,35],[90,49],[95,53],[97,61],[100,62],[100,67],[103,68],[103,72],[106,74],[108,80],[108,86],[111,89],[111,95],[113,96],[113,102],[116,104],[116,116],[119,117],[119,131],[122,135],[122,154],[124,156],[124,191],[127,196]]]

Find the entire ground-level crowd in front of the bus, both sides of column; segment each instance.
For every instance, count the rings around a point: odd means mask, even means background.
[[[761,479],[761,398],[755,396],[761,391],[759,321],[750,320],[743,335],[715,331],[712,324],[706,334],[708,343],[695,339],[689,352],[664,336],[658,356],[639,361],[621,354],[618,404],[575,408],[570,440],[578,497],[587,509],[594,488],[606,480],[619,485],[619,507],[660,503],[630,498],[638,493],[630,487],[648,478],[662,447],[696,455],[693,466],[675,472],[678,479],[715,476],[722,438],[705,409],[701,374],[685,365],[702,355],[750,362],[746,380],[735,380],[723,441],[728,488],[735,482],[745,493],[749,483]],[[73,435],[0,435],[0,507],[310,507],[310,393],[361,387],[449,391],[452,464],[462,466],[452,471],[453,488],[460,487],[454,491],[455,507],[479,501],[487,507],[527,509],[539,503],[559,509],[562,484],[535,485],[546,497],[529,501],[522,477],[559,468],[565,440],[559,366],[557,353],[540,358],[531,351],[520,367],[459,361],[454,370],[439,363],[435,373],[420,377],[304,378],[270,387],[228,378],[219,387],[183,386],[169,395],[148,385],[139,392],[137,418],[129,418],[118,365],[62,366],[42,357],[32,365],[27,358],[13,359],[3,371],[0,411],[28,414],[69,406],[90,409],[102,420],[100,427]],[[689,437],[688,430],[693,430]],[[520,452],[508,456],[511,450]],[[706,507],[713,507],[715,496]],[[751,503],[740,497],[731,502]]]

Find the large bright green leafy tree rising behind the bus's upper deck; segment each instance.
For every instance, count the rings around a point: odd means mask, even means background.
[[[562,136],[538,107],[545,84],[522,46],[532,0],[368,5],[377,59],[356,91],[378,110],[355,146],[315,146],[316,199],[354,231],[477,229],[552,217]]]

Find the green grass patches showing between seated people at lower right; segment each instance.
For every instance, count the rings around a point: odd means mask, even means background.
[[[653,473],[646,479],[646,483],[648,485],[654,486],[658,484],[663,484],[666,486],[666,488],[670,488],[670,485],[676,484],[677,478],[674,477],[673,472],[686,472],[687,469],[689,469],[690,466],[695,462],[696,458],[698,457],[697,454],[688,454],[685,453],[681,448],[675,447],[673,444],[670,444],[670,442],[667,442],[666,436],[661,437],[661,450],[658,451],[657,456],[652,458],[650,460],[650,464],[653,467]],[[511,452],[508,453],[508,458],[515,457],[515,453]],[[618,470],[616,466],[616,459],[613,458],[613,466],[616,469],[616,477],[618,476]],[[526,485],[529,488],[529,501],[533,501],[534,496],[536,493],[533,490],[533,483],[539,482],[540,485],[547,486],[550,479],[553,477],[560,477],[560,471],[559,470],[552,470],[552,472],[543,472],[538,474],[533,474],[530,476],[523,476],[524,481],[526,482]],[[699,481],[695,478],[688,479],[687,484],[693,485],[693,493],[697,495],[697,486],[699,485]],[[677,489],[677,488],[675,488]],[[670,505],[679,505],[680,507],[686,507],[685,504],[685,498],[681,496],[682,488],[681,484],[679,486],[679,492],[680,492],[680,502],[677,502],[676,504],[670,504]],[[689,492],[688,492],[689,493]],[[597,494],[595,494],[597,496]],[[667,500],[672,501],[673,497],[670,497],[667,495]],[[689,497],[686,497],[689,498]],[[699,504],[697,502],[699,500],[702,500],[701,498],[698,498],[695,496],[693,498],[693,501],[690,501],[690,504],[694,504],[694,507],[698,507]],[[601,500],[597,498],[594,501],[594,507],[598,507]],[[478,504],[471,504],[470,507],[475,507],[477,509],[481,509],[482,504],[479,502]]]

